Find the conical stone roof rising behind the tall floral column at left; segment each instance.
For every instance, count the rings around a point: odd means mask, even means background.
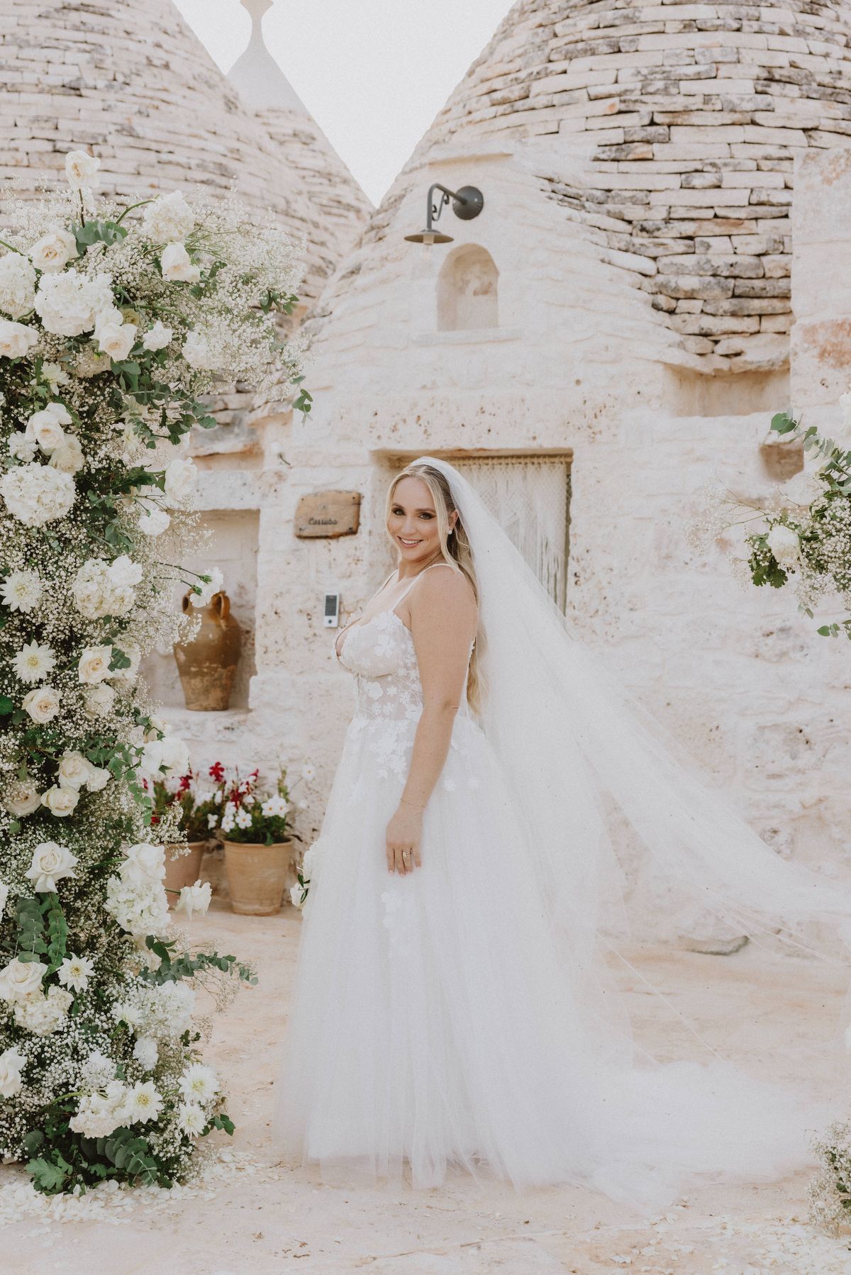
[[[287,147],[273,139],[171,0],[5,0],[0,74],[0,180],[56,173],[82,147],[101,159],[100,189],[121,198],[175,187],[217,195],[236,184],[296,237],[313,215],[293,164],[302,144],[314,145],[307,126]],[[360,212],[351,215],[353,236]],[[333,251],[314,235],[314,289]]]

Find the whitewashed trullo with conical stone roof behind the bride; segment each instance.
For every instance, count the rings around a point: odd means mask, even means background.
[[[341,590],[343,616],[369,597],[392,565],[388,478],[435,453],[780,853],[840,853],[846,652],[684,532],[714,473],[754,500],[788,481],[803,455],[769,436],[771,414],[829,413],[845,389],[847,334],[828,384],[809,317],[810,269],[829,272],[822,171],[851,140],[847,19],[800,3],[514,5],[313,325],[316,409],[287,448],[253,700],[283,708],[293,752],[327,775],[350,708],[323,594]],[[477,187],[484,209],[443,212],[452,242],[408,242],[433,182]],[[356,536],[293,536],[297,500],[322,490],[362,495]]]

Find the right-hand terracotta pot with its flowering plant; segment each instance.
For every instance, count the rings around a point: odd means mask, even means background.
[[[281,910],[299,840],[290,825],[287,771],[281,769],[272,790],[262,789],[256,769],[241,775],[216,762],[209,774],[217,783],[209,825],[225,847],[231,908],[241,915],[269,917]],[[309,774],[305,766],[302,779]]]

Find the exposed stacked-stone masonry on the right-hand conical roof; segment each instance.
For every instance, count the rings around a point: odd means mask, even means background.
[[[546,187],[680,348],[707,371],[785,367],[792,164],[851,144],[850,32],[851,6],[822,0],[521,0],[427,148],[584,142],[582,180]]]

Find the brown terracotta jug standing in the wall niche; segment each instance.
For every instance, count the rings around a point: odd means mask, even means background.
[[[191,593],[182,599],[184,612],[191,607]],[[190,643],[174,648],[177,672],[188,709],[226,709],[242,649],[242,630],[231,615],[226,593],[214,593],[205,607],[198,607],[200,629]]]

